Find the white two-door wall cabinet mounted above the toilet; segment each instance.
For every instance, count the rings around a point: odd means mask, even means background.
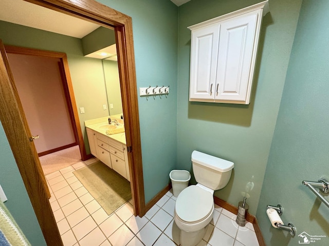
[[[189,27],[190,101],[249,104],[268,1]]]

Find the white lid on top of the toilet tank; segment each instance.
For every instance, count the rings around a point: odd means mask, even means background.
[[[192,162],[199,163],[200,165],[220,172],[227,172],[234,168],[234,163],[232,161],[224,160],[222,158],[208,155],[196,150],[192,152],[191,160]]]

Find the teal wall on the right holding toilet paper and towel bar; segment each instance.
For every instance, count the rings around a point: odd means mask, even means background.
[[[328,208],[301,183],[329,177],[328,14],[328,1],[303,1],[257,211],[267,245],[301,245],[302,232],[326,235],[314,245],[329,245]],[[270,226],[266,205],[278,203],[294,238]]]

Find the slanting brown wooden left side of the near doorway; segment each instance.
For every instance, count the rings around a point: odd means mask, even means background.
[[[10,102],[8,104],[8,102]],[[50,193],[32,135],[27,125],[22,104],[15,88],[5,47],[0,39],[0,120],[4,127],[17,167],[34,212],[48,245],[63,245],[56,221],[50,208]]]

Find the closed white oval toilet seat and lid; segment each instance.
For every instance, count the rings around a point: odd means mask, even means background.
[[[197,223],[213,212],[214,200],[209,191],[198,186],[189,186],[178,195],[175,214],[185,223]]]

